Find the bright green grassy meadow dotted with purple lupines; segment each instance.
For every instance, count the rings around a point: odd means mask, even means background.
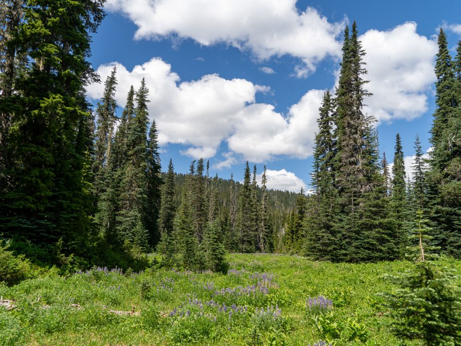
[[[409,262],[228,257],[227,275],[156,268],[122,274],[99,268],[68,277],[49,271],[12,287],[0,285],[5,299],[16,300],[11,311],[0,307],[0,344],[399,343],[375,294],[392,291],[382,275],[405,270]],[[445,264],[461,272],[460,261]],[[324,303],[328,299],[331,307]]]

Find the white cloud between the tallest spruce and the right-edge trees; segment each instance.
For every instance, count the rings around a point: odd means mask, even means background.
[[[416,32],[408,22],[389,31],[368,30],[360,36],[366,51],[366,85],[373,96],[365,109],[379,121],[412,120],[428,110],[435,82],[437,43]]]

